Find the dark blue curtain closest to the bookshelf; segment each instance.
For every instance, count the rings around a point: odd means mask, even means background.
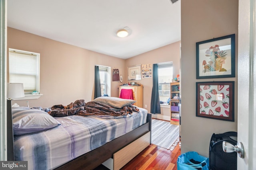
[[[150,113],[161,114],[158,91],[158,64],[153,64],[153,87],[151,94]]]

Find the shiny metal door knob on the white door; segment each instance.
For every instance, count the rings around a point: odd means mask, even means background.
[[[236,145],[232,145],[227,141],[222,142],[222,149],[224,152],[237,152],[240,158],[244,158],[244,146],[242,142],[237,142]]]

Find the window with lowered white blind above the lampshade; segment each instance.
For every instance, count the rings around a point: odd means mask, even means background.
[[[40,54],[9,49],[9,82],[23,83],[25,94],[40,92]]]

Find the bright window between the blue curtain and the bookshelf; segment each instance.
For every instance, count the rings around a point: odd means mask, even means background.
[[[172,62],[158,64],[158,90],[160,103],[167,104],[172,82]],[[162,102],[161,102],[162,101]]]

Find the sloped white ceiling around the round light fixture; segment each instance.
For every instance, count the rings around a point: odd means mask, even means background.
[[[128,59],[180,41],[180,0],[8,0],[7,25]],[[128,37],[116,31],[129,27]]]

